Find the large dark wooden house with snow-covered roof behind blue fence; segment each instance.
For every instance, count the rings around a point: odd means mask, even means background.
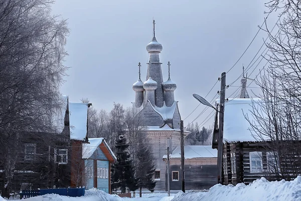
[[[62,112],[53,117],[53,133],[23,132],[16,135],[18,153],[11,170],[11,191],[34,188],[82,186],[82,144],[88,141],[88,107],[91,104],[62,100]],[[5,185],[5,167],[0,184]],[[5,188],[2,188],[5,189]]]

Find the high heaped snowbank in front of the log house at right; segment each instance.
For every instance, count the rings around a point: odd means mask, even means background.
[[[297,176],[293,181],[267,181],[265,178],[257,179],[245,185],[239,183],[233,185],[216,184],[208,192],[179,192],[173,201],[177,200],[301,200],[301,176]]]

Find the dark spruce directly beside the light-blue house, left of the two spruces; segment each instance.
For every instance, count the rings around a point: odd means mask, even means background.
[[[130,154],[127,151],[128,146],[124,132],[119,131],[118,138],[115,142],[117,163],[112,165],[111,187],[113,190],[120,188],[122,193],[125,192],[126,187],[129,188],[130,191],[137,189],[132,160],[130,160]]]

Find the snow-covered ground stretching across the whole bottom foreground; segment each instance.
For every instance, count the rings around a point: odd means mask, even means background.
[[[138,196],[138,194],[136,194]],[[25,199],[27,201],[295,201],[301,200],[301,176],[293,181],[267,181],[265,178],[257,179],[249,185],[239,183],[233,185],[216,184],[208,192],[179,192],[168,197],[167,193],[143,193],[142,197],[119,197],[110,195],[101,190],[86,190],[85,196],[68,197],[57,194],[47,194]],[[5,201],[0,197],[0,201]]]

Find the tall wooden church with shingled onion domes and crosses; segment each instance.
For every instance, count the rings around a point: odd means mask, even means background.
[[[180,146],[181,116],[174,94],[177,85],[171,79],[170,62],[167,63],[168,80],[163,82],[162,63],[159,57],[162,50],[162,45],[156,39],[155,21],[153,21],[153,39],[146,46],[149,57],[146,79],[144,82],[140,79],[141,65],[139,63],[139,78],[132,85],[132,89],[135,91],[133,107],[138,111],[138,118],[143,119],[142,126],[146,127],[145,132],[155,158],[156,190],[165,190],[167,185],[166,163],[162,158],[167,154],[168,144],[170,152]],[[188,133],[184,132],[184,134]]]

